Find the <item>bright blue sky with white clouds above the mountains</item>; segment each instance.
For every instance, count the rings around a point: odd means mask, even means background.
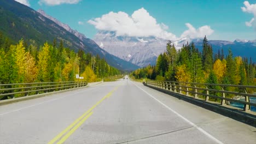
[[[137,31],[147,31],[145,27],[131,28],[135,32],[131,35],[145,36],[155,34],[157,37],[181,38],[182,35],[190,35],[197,38],[206,33],[208,39],[220,39],[234,41],[238,39],[256,39],[256,0],[248,1],[251,8],[242,10],[244,2],[240,0],[205,0],[205,1],[89,1],[89,0],[69,0],[73,4],[65,3],[67,0],[16,0],[28,2],[31,8],[43,9],[63,23],[67,23],[71,28],[84,33],[88,38],[94,38],[98,29],[118,31],[121,34],[129,32],[123,31],[125,26],[114,25],[111,21],[136,21],[132,14],[136,12],[137,17],[148,17],[153,32],[136,33]],[[40,1],[40,2],[39,2]],[[59,1],[59,3],[57,3]],[[62,3],[61,3],[62,2]],[[255,5],[252,5],[255,4]],[[143,8],[143,9],[142,9]],[[113,11],[112,14],[109,14]],[[120,14],[119,11],[124,13]],[[107,15],[106,15],[107,14]],[[123,14],[128,17],[123,19]],[[148,14],[148,15],[147,15]],[[106,19],[102,18],[106,15]],[[98,20],[95,18],[99,17]],[[118,17],[118,18],[117,18]],[[153,17],[153,19],[152,19]],[[145,18],[147,19],[147,18]],[[91,21],[90,23],[88,21]],[[154,20],[156,23],[154,23]],[[79,25],[83,23],[83,25]],[[249,23],[251,21],[251,23]],[[152,22],[152,25],[150,24]],[[246,22],[247,25],[246,25]],[[187,25],[185,24],[187,23]],[[189,23],[189,24],[188,24]],[[113,25],[112,25],[113,24]],[[134,23],[131,23],[133,25]],[[250,25],[251,24],[251,25]],[[135,24],[134,24],[135,25]],[[159,26],[160,25],[160,26]],[[127,25],[129,26],[129,25]],[[167,27],[168,28],[167,28]],[[191,26],[190,28],[188,28]],[[205,26],[205,27],[203,27]],[[97,27],[97,28],[95,28]],[[200,29],[200,27],[202,27]],[[140,29],[141,28],[141,29]],[[193,30],[193,28],[195,28]],[[185,32],[187,31],[187,32]],[[162,33],[159,34],[157,33]],[[128,34],[128,35],[129,35]],[[164,35],[164,36],[163,36]],[[174,35],[174,36],[173,36]]]

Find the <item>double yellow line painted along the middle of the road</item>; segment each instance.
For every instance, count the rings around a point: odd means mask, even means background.
[[[113,94],[114,91],[117,91],[119,86],[115,87],[112,91],[110,91],[107,95],[105,95],[100,101],[98,101],[94,106],[92,106],[88,111],[83,113],[82,116],[80,116],[78,119],[75,119],[75,121],[69,125],[65,130],[61,131],[61,133],[54,137],[53,140],[49,141],[48,144],[53,144],[57,140],[57,144],[65,142],[69,136],[71,136],[75,130],[77,130],[80,125],[82,125],[86,119],[88,119],[92,115],[92,110],[99,105],[104,99],[109,98],[110,95]]]

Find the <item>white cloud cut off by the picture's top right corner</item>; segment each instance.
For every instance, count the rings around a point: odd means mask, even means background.
[[[253,14],[251,21],[245,22],[246,26],[254,27],[254,29],[256,29],[256,3],[250,4],[248,1],[245,1],[243,4],[245,4],[245,7],[241,7],[242,11],[245,13]]]

